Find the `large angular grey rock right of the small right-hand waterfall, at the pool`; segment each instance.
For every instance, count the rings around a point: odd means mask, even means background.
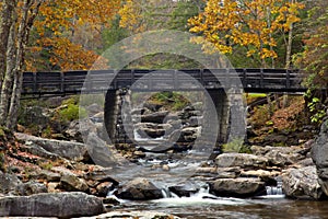
[[[282,175],[283,189],[295,199],[320,199],[324,195],[315,166],[290,169]]]

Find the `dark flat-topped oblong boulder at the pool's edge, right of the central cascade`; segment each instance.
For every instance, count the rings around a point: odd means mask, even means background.
[[[219,178],[210,182],[210,193],[224,197],[253,197],[266,193],[263,182],[257,178]]]

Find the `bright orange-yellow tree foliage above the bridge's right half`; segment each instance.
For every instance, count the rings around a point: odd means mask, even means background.
[[[189,20],[190,32],[201,35],[194,41],[204,48],[211,43],[219,51],[232,54],[242,47],[258,66],[274,67],[277,36],[300,21],[302,8],[285,0],[209,0],[204,11]]]

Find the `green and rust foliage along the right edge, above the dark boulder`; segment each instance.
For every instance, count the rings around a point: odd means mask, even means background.
[[[328,107],[328,2],[311,2],[308,8],[303,34],[305,49],[294,58],[306,73],[304,83],[308,90],[305,97],[311,119],[320,124]]]

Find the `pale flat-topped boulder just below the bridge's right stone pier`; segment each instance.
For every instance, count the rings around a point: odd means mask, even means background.
[[[219,168],[258,169],[266,168],[268,159],[248,153],[222,153],[216,157],[215,163]]]

